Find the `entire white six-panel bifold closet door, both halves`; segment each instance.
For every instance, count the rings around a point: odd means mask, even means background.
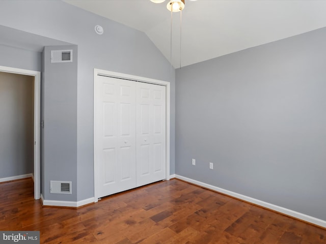
[[[166,175],[165,86],[98,76],[98,193],[107,196]]]

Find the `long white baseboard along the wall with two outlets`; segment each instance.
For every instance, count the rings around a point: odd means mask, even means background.
[[[309,223],[319,225],[321,227],[326,228],[326,221],[317,219],[317,218],[312,217],[312,216],[302,214],[301,212],[296,212],[296,211],[293,211],[291,209],[280,207],[280,206],[277,206],[277,205],[274,205],[274,204],[271,204],[271,203],[268,203],[268,202],[260,201],[258,199],[252,198],[252,197],[244,196],[244,195],[241,195],[241,194],[238,194],[238,193],[235,193],[235,192],[231,192],[231,191],[219,188],[219,187],[214,187],[214,186],[206,184],[204,182],[201,182],[201,181],[198,181],[198,180],[195,180],[195,179],[191,179],[191,178],[187,178],[187,177],[184,177],[184,176],[181,176],[181,175],[176,174],[175,178],[187,181],[189,183],[192,183],[192,184],[195,184],[195,185],[198,185],[198,186],[201,186],[201,187],[204,187],[204,188],[216,191],[216,192],[223,193],[225,195],[232,196],[232,197],[237,198],[237,199],[241,199],[241,200],[246,201],[246,202],[251,202],[253,204],[256,204],[256,205],[259,205],[259,206],[262,206],[262,207],[265,207],[265,208],[280,212],[280,213],[282,213],[284,215],[291,216],[291,217],[294,217],[296,219],[300,219],[300,220],[303,220],[303,221],[306,221],[306,222],[309,222]]]

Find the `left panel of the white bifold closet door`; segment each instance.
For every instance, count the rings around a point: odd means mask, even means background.
[[[96,143],[99,195],[136,187],[135,82],[99,76]]]

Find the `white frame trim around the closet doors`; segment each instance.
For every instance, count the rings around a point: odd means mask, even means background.
[[[94,69],[94,202],[98,201],[100,197],[98,195],[98,177],[99,163],[97,162],[97,155],[95,154],[97,149],[96,141],[96,90],[97,90],[97,76],[110,76],[114,78],[127,79],[133,81],[142,81],[151,84],[159,84],[166,86],[166,180],[170,179],[170,82],[145,78],[141,76],[128,75],[123,73],[117,73],[113,71]]]

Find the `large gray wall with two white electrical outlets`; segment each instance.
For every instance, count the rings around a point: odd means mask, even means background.
[[[326,220],[325,43],[321,28],[177,70],[176,173]]]

